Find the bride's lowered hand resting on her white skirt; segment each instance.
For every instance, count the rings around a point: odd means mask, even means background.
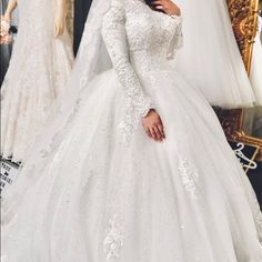
[[[158,142],[162,142],[165,139],[162,120],[154,109],[151,109],[142,119],[142,124],[149,138]]]

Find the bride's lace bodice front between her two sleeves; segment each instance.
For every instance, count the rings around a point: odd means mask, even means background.
[[[169,16],[151,10],[143,0],[125,1],[125,33],[130,61],[138,72],[168,66],[168,50],[178,23]]]

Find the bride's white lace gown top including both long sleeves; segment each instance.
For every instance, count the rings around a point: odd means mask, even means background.
[[[167,64],[182,43],[181,18],[151,10],[143,0],[112,0],[102,36],[129,100],[121,127],[125,137],[153,108],[138,73]]]

